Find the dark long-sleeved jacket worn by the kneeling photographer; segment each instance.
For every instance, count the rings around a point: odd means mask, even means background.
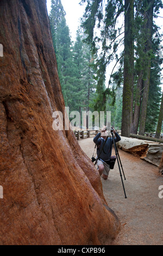
[[[95,142],[95,144],[97,145],[97,156],[99,155],[99,153],[101,152],[102,148],[103,148],[103,144],[105,143],[105,139],[104,138],[99,138],[101,136],[101,133],[99,132],[95,138],[93,138],[93,142]],[[121,141],[121,137],[120,135],[118,135],[118,133],[115,133],[115,142]],[[109,160],[111,157],[111,151],[112,151],[112,144],[113,144],[113,140],[112,138],[108,138],[104,148],[102,150],[101,155],[99,156],[100,159],[102,160]]]

